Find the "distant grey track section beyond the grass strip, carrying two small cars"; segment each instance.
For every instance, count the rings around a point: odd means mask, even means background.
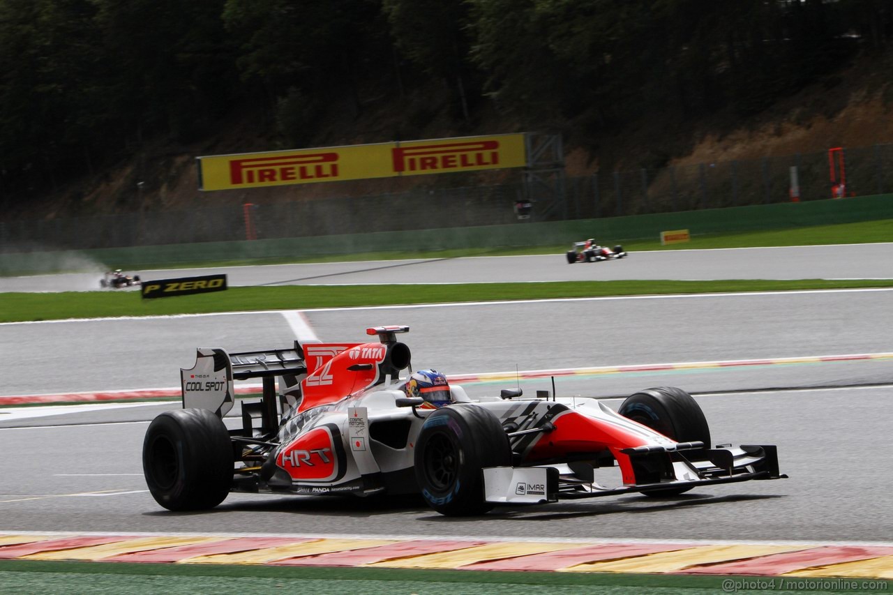
[[[0,278],[4,291],[99,289],[95,272]],[[359,261],[129,271],[144,281],[226,273],[230,286],[523,281],[893,279],[893,243],[633,252],[621,260],[567,264],[563,254]],[[110,289],[111,290],[111,289]]]

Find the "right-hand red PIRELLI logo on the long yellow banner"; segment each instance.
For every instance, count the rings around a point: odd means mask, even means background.
[[[437,143],[391,149],[394,172],[461,170],[499,164],[499,141]]]

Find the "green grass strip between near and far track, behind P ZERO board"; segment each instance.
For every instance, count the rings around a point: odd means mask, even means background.
[[[215,293],[162,299],[142,299],[135,291],[0,293],[0,322],[516,299],[879,287],[893,287],[893,280],[561,281],[328,287],[288,285],[235,287]]]

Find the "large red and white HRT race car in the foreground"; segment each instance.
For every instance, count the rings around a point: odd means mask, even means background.
[[[421,493],[444,515],[480,515],[499,504],[674,496],[786,477],[774,446],[710,448],[704,414],[683,390],[637,392],[615,413],[594,398],[548,391],[472,401],[433,370],[400,378],[410,350],[396,334],[407,331],[370,328],[380,342],[363,344],[198,349],[196,365],[180,371],[184,408],[158,415],[146,431],[143,470],[154,499],[197,510],[230,491]],[[228,430],[233,381],[250,378],[263,379],[263,397],[243,402],[242,427]],[[603,485],[605,470],[597,482],[598,467],[619,469],[620,482]]]

